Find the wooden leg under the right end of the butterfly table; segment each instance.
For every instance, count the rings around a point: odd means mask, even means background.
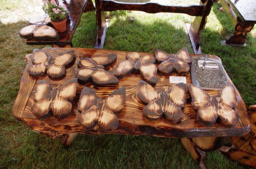
[[[199,166],[206,169],[203,162],[206,152],[219,149],[223,144],[223,137],[181,138],[181,143]]]

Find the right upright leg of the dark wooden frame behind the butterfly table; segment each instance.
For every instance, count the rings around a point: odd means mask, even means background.
[[[212,0],[201,0],[200,4],[203,5],[202,16],[196,16],[195,20],[189,25],[187,24],[188,35],[192,43],[195,54],[201,54],[201,31],[205,28],[207,16],[212,8]]]

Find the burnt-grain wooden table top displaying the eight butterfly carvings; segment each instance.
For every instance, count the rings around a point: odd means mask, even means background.
[[[236,111],[239,114],[239,122],[235,126],[230,128],[220,126],[218,123],[212,127],[202,126],[197,122],[196,112],[191,106],[191,98],[187,88],[187,104],[184,108],[184,115],[181,122],[170,123],[165,118],[160,118],[156,121],[148,120],[143,115],[144,104],[138,99],[138,82],[142,80],[139,73],[132,73],[130,76],[119,79],[117,85],[107,86],[94,86],[92,83],[86,85],[77,85],[76,99],[72,102],[73,109],[71,115],[64,119],[57,119],[55,116],[51,116],[46,120],[41,120],[35,117],[31,113],[31,105],[34,100],[34,93],[39,80],[48,82],[52,88],[58,87],[73,78],[75,78],[75,71],[77,70],[77,60],[81,57],[91,57],[95,54],[110,54],[116,53],[117,60],[111,65],[106,67],[106,70],[113,72],[117,63],[125,59],[127,52],[113,51],[113,50],[99,50],[99,49],[84,49],[84,48],[44,48],[48,55],[55,57],[58,53],[73,49],[75,50],[75,59],[72,62],[72,66],[66,68],[66,74],[60,79],[50,79],[47,74],[38,78],[28,74],[27,68],[32,63],[28,59],[27,66],[24,70],[23,76],[20,81],[20,90],[13,106],[13,115],[16,119],[23,121],[30,129],[38,131],[48,137],[58,138],[68,133],[84,133],[84,134],[105,134],[105,133],[117,133],[127,135],[152,135],[157,137],[229,137],[245,135],[250,131],[249,119],[246,111],[245,103],[243,102],[240,93],[235,88],[236,99],[238,105]],[[146,53],[141,53],[146,54]],[[191,54],[190,56],[198,56]],[[208,57],[219,59],[218,56],[209,55]],[[220,60],[220,59],[219,59]],[[177,76],[172,74],[172,76]],[[228,75],[226,74],[228,77]],[[187,78],[187,84],[192,83],[190,73],[185,76]],[[233,85],[229,79],[229,83]],[[169,76],[163,76],[157,74],[157,84],[154,86],[155,90],[166,90],[168,86],[174,85],[170,83]],[[119,119],[119,127],[113,131],[104,131],[95,126],[93,129],[86,130],[78,121],[79,111],[77,110],[77,104],[80,97],[80,92],[88,86],[92,88],[95,93],[102,98],[105,98],[114,90],[121,87],[126,87],[126,102],[123,110],[117,114]],[[211,96],[218,94],[216,90],[206,90]]]

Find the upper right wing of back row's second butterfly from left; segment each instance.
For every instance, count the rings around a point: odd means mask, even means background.
[[[117,54],[101,54],[101,55],[95,55],[92,56],[91,59],[95,61],[98,65],[102,65],[104,67],[107,67],[108,65],[111,65],[114,63],[114,61],[117,59]]]

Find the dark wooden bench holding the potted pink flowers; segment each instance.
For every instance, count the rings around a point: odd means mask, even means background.
[[[88,0],[59,0],[59,4],[65,4],[69,12],[69,20],[67,20],[67,29],[65,32],[59,33],[59,41],[35,41],[34,38],[27,40],[27,45],[67,45],[71,42],[75,29],[79,24],[82,13],[86,7]]]

